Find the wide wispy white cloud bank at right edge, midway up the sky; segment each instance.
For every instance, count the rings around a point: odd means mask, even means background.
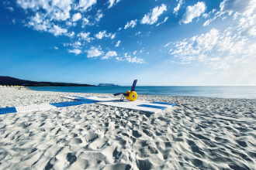
[[[232,31],[232,32],[231,32]],[[254,58],[256,42],[237,34],[234,29],[209,32],[190,39],[183,39],[170,46],[170,54],[184,63],[197,61],[209,64],[214,69],[227,69],[234,63]]]

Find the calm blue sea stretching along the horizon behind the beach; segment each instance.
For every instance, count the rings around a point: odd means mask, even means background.
[[[130,87],[29,87],[31,90],[74,92],[74,93],[119,93],[130,90]],[[250,98],[256,99],[256,87],[136,87],[139,94]]]

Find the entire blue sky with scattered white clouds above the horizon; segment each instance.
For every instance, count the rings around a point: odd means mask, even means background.
[[[0,75],[256,85],[256,0],[2,0]]]

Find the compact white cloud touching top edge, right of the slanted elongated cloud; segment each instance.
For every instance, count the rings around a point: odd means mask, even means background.
[[[206,11],[206,4],[204,2],[197,2],[193,6],[188,6],[186,12],[182,17],[182,23],[188,24],[193,19],[198,18]]]

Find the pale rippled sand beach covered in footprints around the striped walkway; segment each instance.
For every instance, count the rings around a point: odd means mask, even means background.
[[[0,107],[85,94],[0,87]],[[256,100],[139,99],[177,106],[157,114],[82,104],[0,115],[0,169],[256,169]]]

